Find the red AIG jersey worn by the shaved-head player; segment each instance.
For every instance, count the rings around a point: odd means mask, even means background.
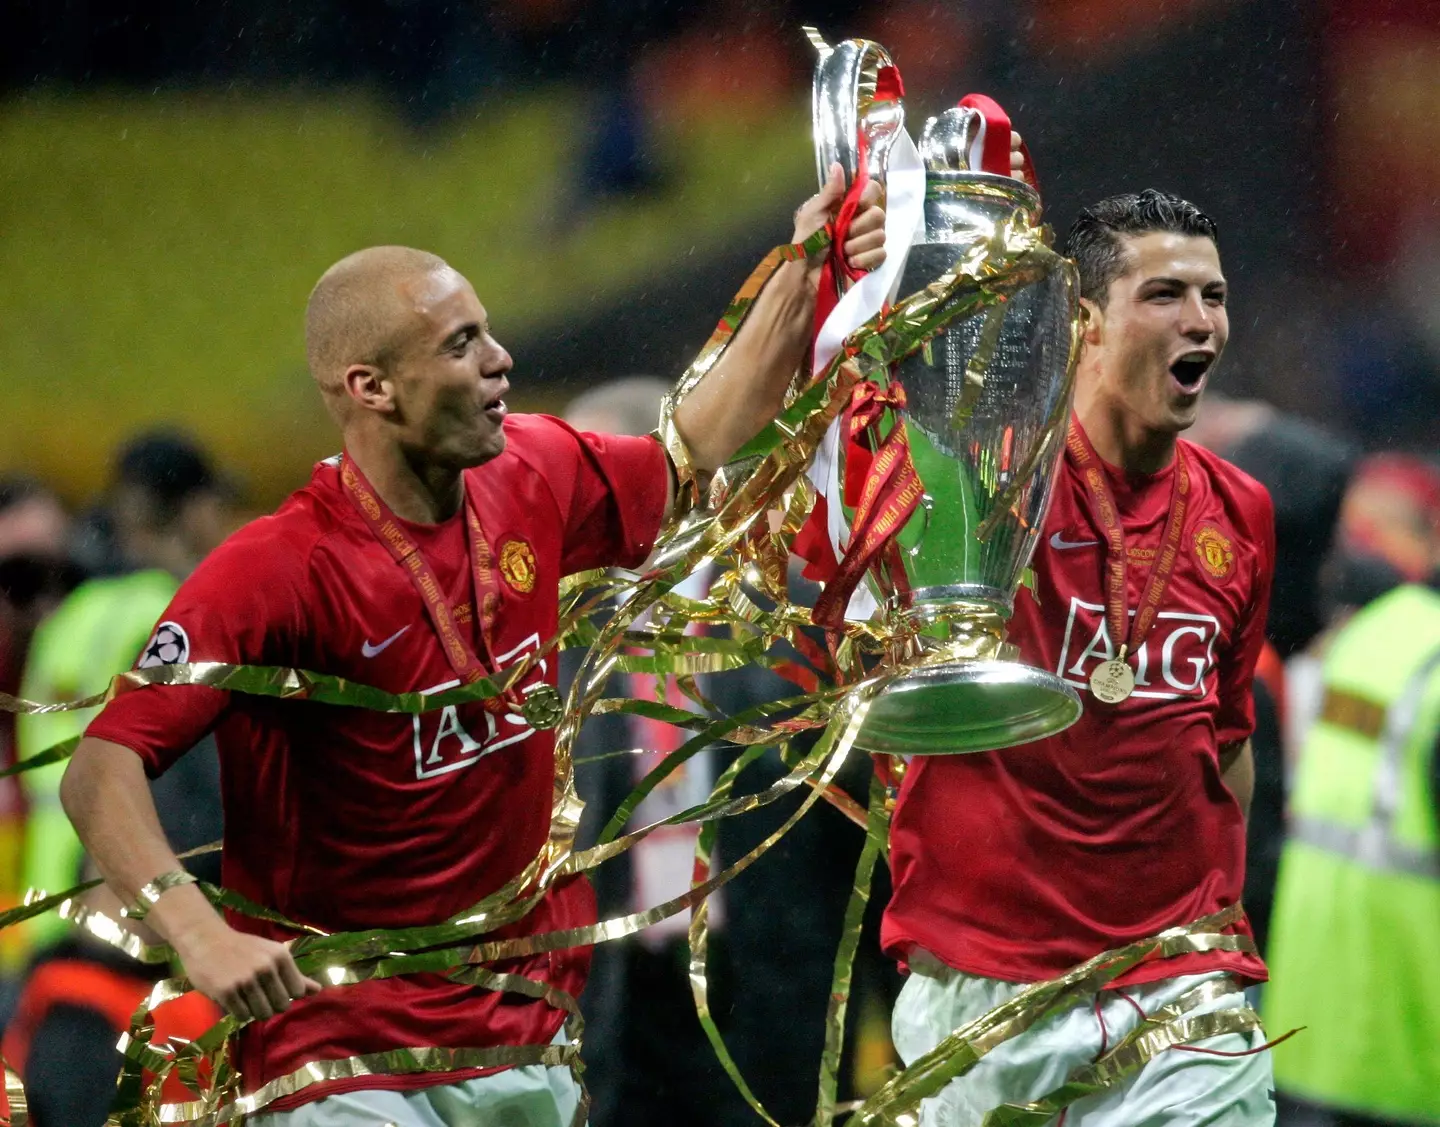
[[[508,665],[556,630],[560,577],[644,561],[665,507],[668,469],[648,438],[577,435],[556,419],[511,416],[504,453],[468,471],[500,574],[494,658]],[[338,459],[271,517],[217,548],[181,586],[141,656],[287,665],[390,692],[458,684],[408,573],[340,484]],[[405,522],[472,632],[465,518]],[[554,684],[544,659],[530,684]],[[524,691],[524,685],[521,685]],[[504,885],[550,826],[554,738],[480,704],[425,715],[151,685],[111,702],[89,734],[134,748],[154,776],[207,731],[220,748],[225,884],[327,931],[438,924]],[[595,921],[572,879],[508,937]],[[232,925],[291,938],[242,915]],[[497,967],[577,995],[589,950]],[[298,1000],[240,1033],[245,1090],[318,1059],[397,1048],[547,1044],[563,1013],[435,974],[364,982]],[[274,1108],[356,1088],[420,1088],[480,1075],[364,1077],[317,1084]],[[490,1069],[494,1071],[494,1069]]]

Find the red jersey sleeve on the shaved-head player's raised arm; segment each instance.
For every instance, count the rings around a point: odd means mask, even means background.
[[[582,433],[544,415],[526,416],[521,427],[564,521],[560,574],[642,564],[665,518],[664,448],[648,436]]]

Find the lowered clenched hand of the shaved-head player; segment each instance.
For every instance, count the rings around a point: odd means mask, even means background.
[[[297,997],[320,993],[320,983],[300,973],[284,943],[248,936],[223,921],[176,953],[190,985],[232,1018],[264,1020],[284,1013]]]

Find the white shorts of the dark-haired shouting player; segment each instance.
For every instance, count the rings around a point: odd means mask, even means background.
[[[1126,987],[1142,1010],[1153,1013],[1207,979],[1191,974]],[[924,1055],[969,1020],[986,1013],[1024,989],[1011,982],[982,979],[942,967],[913,972],[896,1000],[891,1033],[900,1058],[909,1064]],[[920,1105],[922,1127],[979,1127],[985,1113],[1001,1104],[1028,1104],[1058,1088],[1071,1069],[1087,1065],[1102,1044],[1115,1045],[1140,1020],[1139,1012],[1117,990],[1100,995],[1100,1018],[1093,999],[1040,1020],[1024,1033],[1002,1042]],[[1238,1008],[1244,995],[1223,995],[1192,1013]],[[1102,1041],[1102,1036],[1106,1039]],[[1259,1031],[1225,1033],[1195,1045],[1223,1052],[1243,1052],[1264,1044]],[[1274,1123],[1270,1052],[1250,1056],[1211,1056],[1168,1049],[1113,1088],[1073,1103],[1066,1127],[1261,1127]]]

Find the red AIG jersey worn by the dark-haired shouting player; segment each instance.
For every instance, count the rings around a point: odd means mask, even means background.
[[[1181,446],[1191,478],[1181,556],[1132,655],[1135,694],[1117,705],[1089,689],[1119,646],[1104,617],[1104,533],[1066,452],[1032,561],[1034,597],[1017,593],[1009,639],[1022,661],[1074,685],[1084,714],[1048,740],[912,761],[881,933],[896,957],[919,946],[971,974],[1040,982],[1240,900],[1246,826],[1218,756],[1254,725],[1274,515],[1260,484]],[[1104,469],[1125,528],[1133,619],[1175,465],[1155,475]],[[1117,982],[1201,969],[1264,977],[1257,956],[1208,953],[1142,964]]]

